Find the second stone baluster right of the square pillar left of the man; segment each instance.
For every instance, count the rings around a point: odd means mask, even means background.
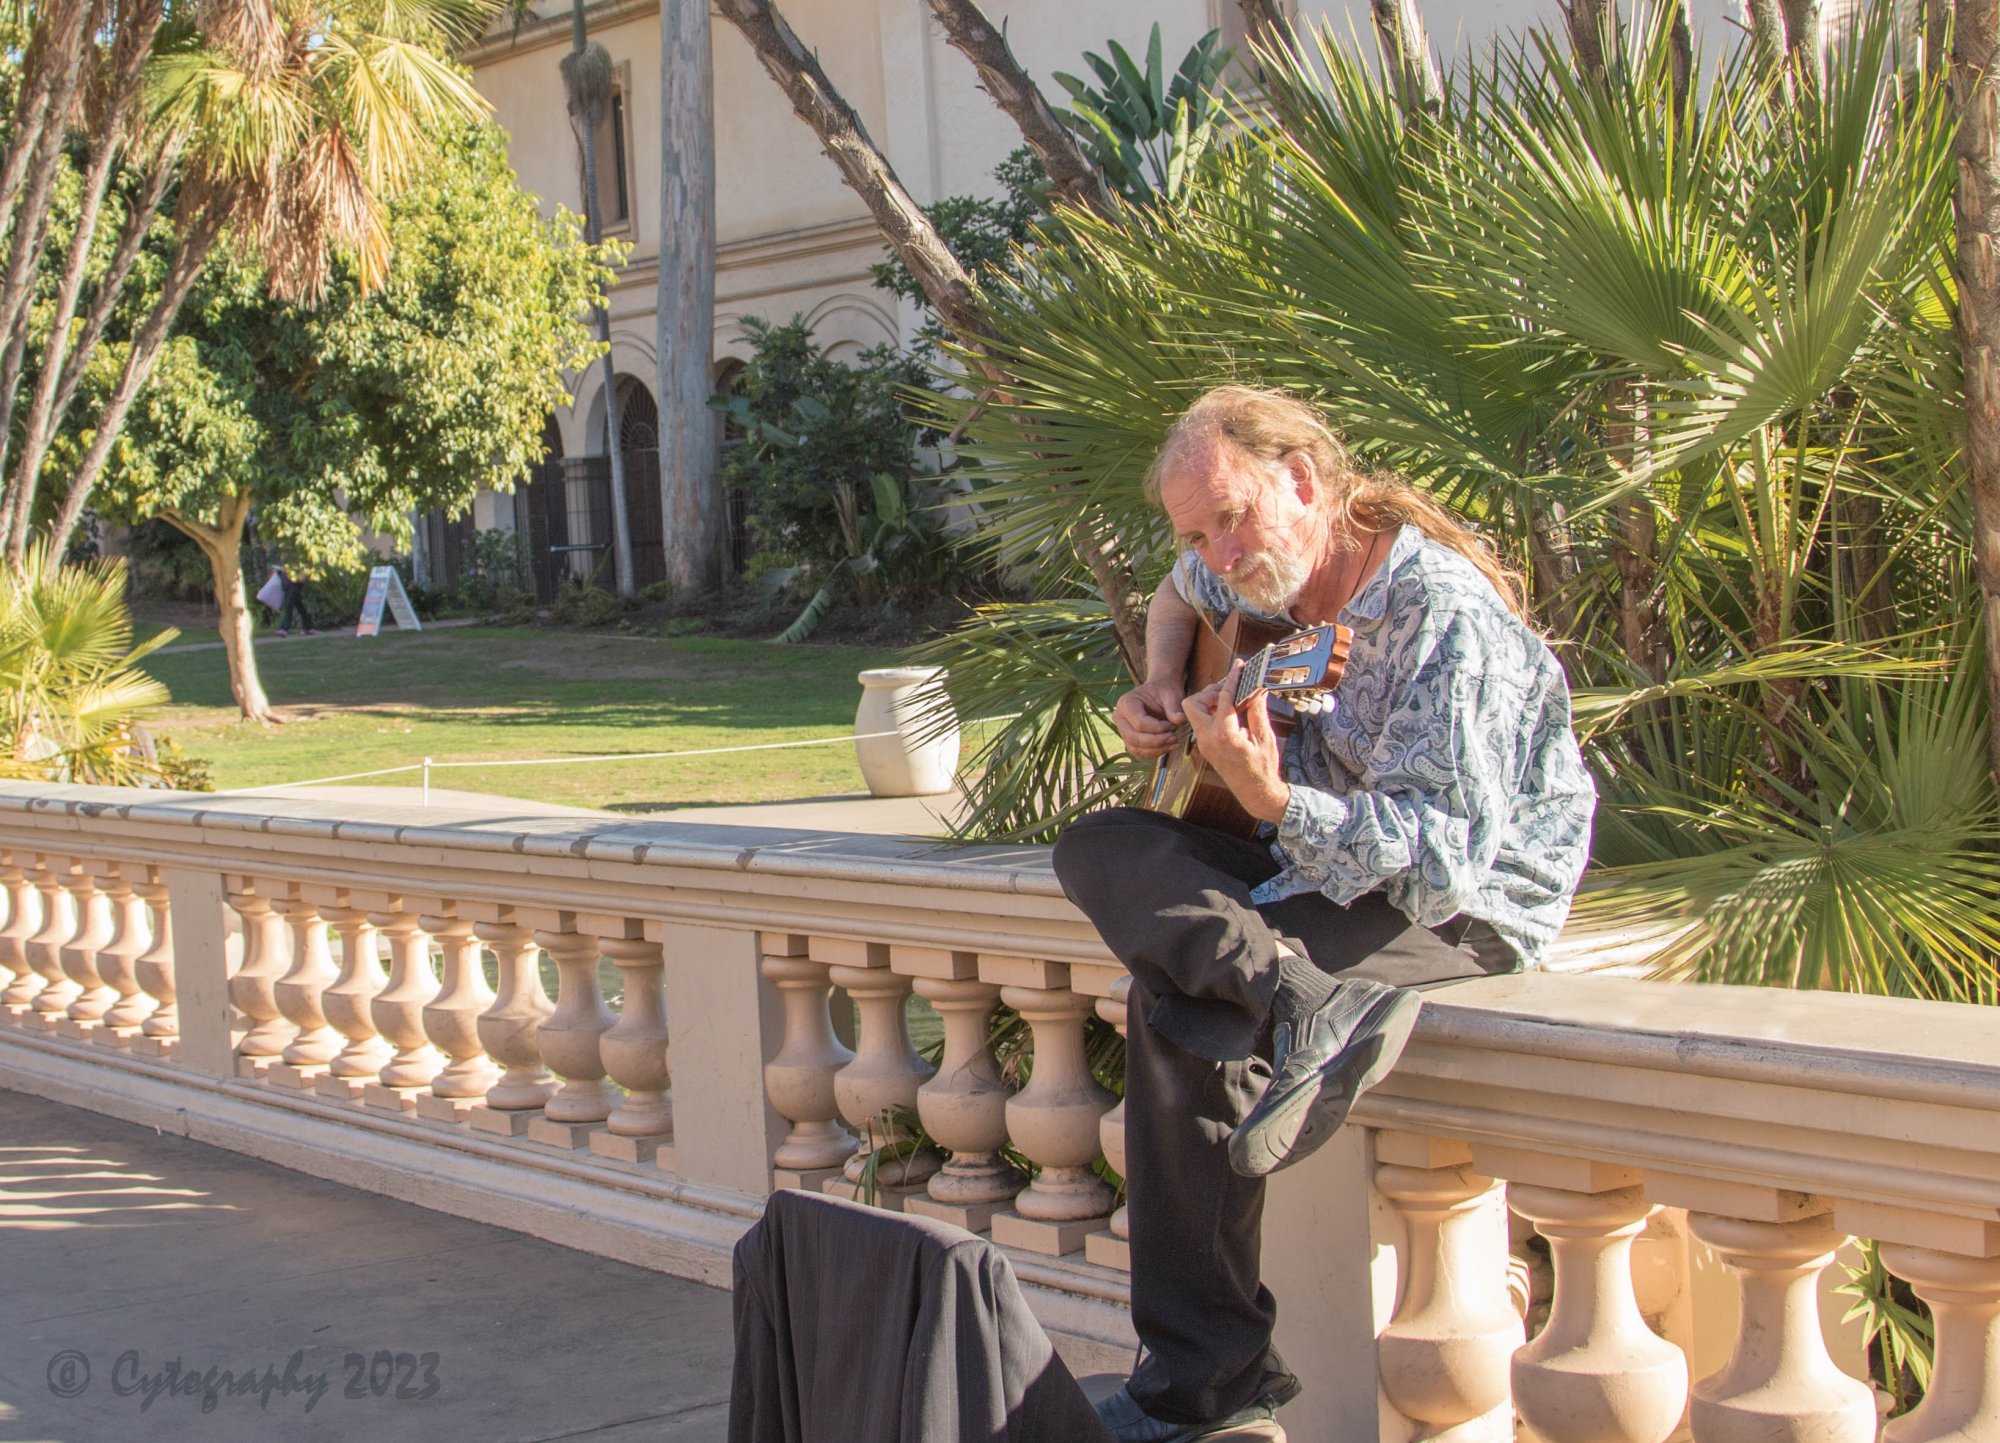
[[[854,1061],[834,1075],[834,1101],[862,1143],[826,1191],[900,1211],[940,1165],[938,1155],[918,1149],[910,1129],[896,1121],[898,1111],[916,1107],[916,1089],[932,1073],[910,1045],[904,1017],[910,979],[888,969],[888,947],[878,941],[814,937],[810,955],[834,963],[826,975],[846,989],[858,1013]]]

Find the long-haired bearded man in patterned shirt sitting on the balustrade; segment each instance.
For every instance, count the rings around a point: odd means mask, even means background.
[[[1354,468],[1306,404],[1224,386],[1148,476],[1182,558],[1112,720],[1138,757],[1192,729],[1258,837],[1114,807],[1056,875],[1132,973],[1126,1187],[1146,1357],[1098,1413],[1122,1443],[1278,1437],[1298,1393],[1258,1277],[1264,1177],[1394,1065],[1414,989],[1540,963],[1594,793],[1522,588],[1422,492]],[[1236,672],[1184,696],[1232,610],[1352,628],[1334,706],[1280,747]],[[1240,666],[1240,664],[1238,664]],[[1268,1059],[1268,1061],[1266,1061]],[[1268,1077],[1268,1083],[1266,1083]]]

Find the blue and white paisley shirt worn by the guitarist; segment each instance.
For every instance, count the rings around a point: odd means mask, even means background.
[[[1174,586],[1212,622],[1248,610],[1192,552]],[[1570,911],[1596,791],[1554,654],[1466,558],[1404,526],[1340,618],[1334,710],[1284,751],[1282,871],[1252,897],[1380,891],[1420,925],[1488,923],[1534,967]]]

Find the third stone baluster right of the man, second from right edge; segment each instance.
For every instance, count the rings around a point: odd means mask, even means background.
[[[1696,1443],[1870,1443],[1874,1389],[1834,1367],[1820,1333],[1818,1281],[1840,1245],[1832,1219],[1688,1213],[1688,1225],[1742,1297],[1736,1351],[1694,1385]]]

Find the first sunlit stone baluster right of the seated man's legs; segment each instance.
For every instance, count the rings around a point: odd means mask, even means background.
[[[1508,1375],[1524,1329],[1506,1283],[1500,1183],[1432,1137],[1382,1133],[1376,1157],[1376,1191],[1408,1231],[1402,1295],[1376,1339],[1382,1393],[1428,1429],[1420,1437],[1512,1439]]]

